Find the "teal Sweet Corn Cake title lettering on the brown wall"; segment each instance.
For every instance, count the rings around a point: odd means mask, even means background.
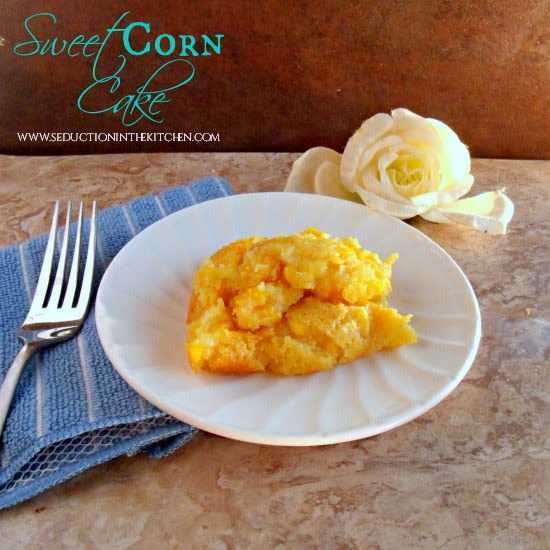
[[[55,35],[44,38],[38,29],[55,28],[57,17],[49,12],[35,13],[24,20],[27,39],[16,43],[13,53],[22,57],[92,58],[92,80],[76,99],[80,111],[90,115],[111,113],[119,116],[124,126],[134,126],[144,119],[160,124],[164,122],[161,108],[171,101],[171,93],[195,78],[193,59],[221,55],[224,35],[158,34],[146,21],[129,21],[129,14],[122,13],[102,34],[79,34],[68,40]],[[145,55],[158,56],[160,64],[135,90],[122,93],[129,61]],[[102,70],[103,66],[109,68]],[[165,84],[167,81],[170,83]]]

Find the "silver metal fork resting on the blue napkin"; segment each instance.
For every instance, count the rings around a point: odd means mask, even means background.
[[[0,434],[8,416],[15,388],[23,367],[38,349],[68,340],[79,331],[90,304],[92,281],[95,264],[96,243],[96,203],[92,205],[90,219],[90,237],[82,277],[80,272],[80,249],[82,244],[82,221],[84,206],[80,203],[74,252],[71,269],[67,279],[67,257],[69,254],[69,231],[71,222],[71,203],[67,206],[67,216],[63,241],[59,251],[59,261],[54,272],[55,242],[57,221],[59,218],[59,201],[55,203],[52,225],[38,284],[34,292],[31,307],[18,332],[23,341],[0,387]]]

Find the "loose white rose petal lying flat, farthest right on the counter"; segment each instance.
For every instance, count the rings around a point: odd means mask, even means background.
[[[432,222],[464,225],[491,235],[504,235],[513,215],[514,203],[504,190],[481,193],[421,214]]]

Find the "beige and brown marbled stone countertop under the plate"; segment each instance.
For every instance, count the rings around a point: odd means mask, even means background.
[[[295,155],[0,157],[0,245],[42,232],[53,198],[101,206],[227,177],[281,189]],[[0,512],[2,548],[550,547],[550,161],[476,160],[506,187],[508,235],[413,222],[448,250],[482,306],[467,378],[421,418],[318,448],[201,434],[171,457],[120,458]]]

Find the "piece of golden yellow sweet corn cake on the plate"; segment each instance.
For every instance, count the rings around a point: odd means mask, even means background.
[[[396,259],[315,228],[224,246],[195,276],[191,367],[307,374],[415,342],[411,316],[386,303]]]

